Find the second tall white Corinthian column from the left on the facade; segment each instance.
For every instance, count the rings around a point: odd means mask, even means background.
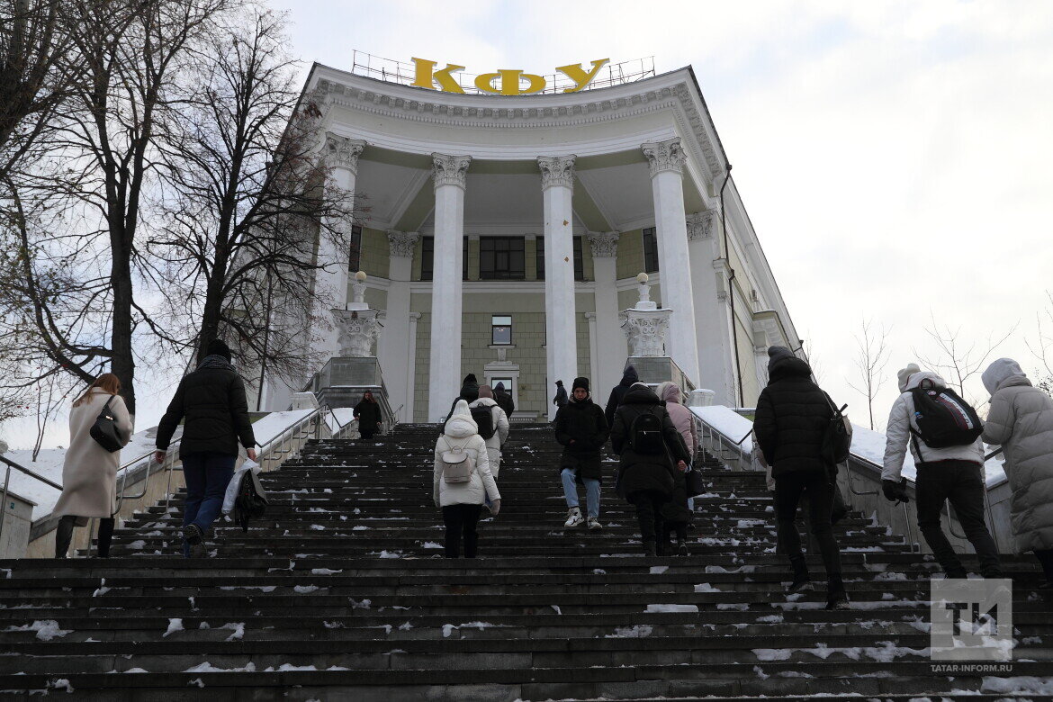
[[[435,259],[432,281],[432,347],[428,380],[428,419],[445,417],[460,392],[461,239],[464,237],[464,183],[470,156],[432,154],[435,183]]]

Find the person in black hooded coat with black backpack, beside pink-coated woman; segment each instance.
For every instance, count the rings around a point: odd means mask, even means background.
[[[661,426],[661,444],[656,453],[644,453],[637,444],[639,437],[634,437],[634,434],[639,435],[634,423],[647,414],[653,415]],[[664,535],[662,505],[672,498],[676,470],[687,468],[691,453],[665,412],[665,405],[643,383],[630,386],[621,406],[614,413],[611,444],[621,457],[618,495],[636,506],[643,554],[664,556],[663,540],[658,540],[659,535]]]

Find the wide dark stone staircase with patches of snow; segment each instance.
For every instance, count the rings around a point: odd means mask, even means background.
[[[762,477],[706,463],[691,555],[645,558],[603,484],[601,529],[564,530],[548,427],[516,426],[480,558],[440,557],[434,425],[319,441],[267,474],[247,534],[177,557],[178,514],[118,531],[113,558],[0,562],[3,697],[100,700],[1038,699],[1053,688],[1053,600],[1028,560],[1012,671],[937,673],[935,569],[861,515],[836,528],[850,610],[787,597]],[[583,494],[583,490],[582,490]],[[810,558],[813,576],[822,568]],[[1044,688],[1042,685],[1046,685]],[[1019,690],[1030,690],[1027,695]]]

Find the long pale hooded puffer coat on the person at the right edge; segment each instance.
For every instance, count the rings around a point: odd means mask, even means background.
[[[1053,399],[1012,359],[998,359],[981,377],[991,393],[981,438],[1006,454],[1016,550],[1053,548]]]

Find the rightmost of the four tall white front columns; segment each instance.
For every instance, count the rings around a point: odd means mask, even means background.
[[[658,230],[658,268],[661,301],[673,310],[668,349],[680,369],[698,382],[695,336],[695,304],[688,257],[688,226],[683,210],[683,163],[687,157],[680,138],[649,142],[641,146],[651,166],[651,192]]]

